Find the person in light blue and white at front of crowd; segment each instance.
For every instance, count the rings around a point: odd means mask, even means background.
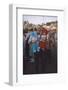
[[[37,32],[36,32],[36,29],[32,29],[32,32],[30,34],[30,38],[29,38],[29,46],[30,46],[30,56],[32,57],[31,58],[31,62],[34,62],[34,55],[35,53],[39,52],[39,49],[38,49],[38,44],[37,44]]]

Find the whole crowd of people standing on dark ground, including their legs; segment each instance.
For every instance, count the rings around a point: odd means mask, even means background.
[[[39,29],[31,28],[27,32],[23,31],[24,60],[35,63],[36,69],[38,68],[39,58],[41,58],[42,71],[44,70],[47,54],[50,58],[50,50],[54,47],[57,47],[57,32],[55,30],[48,31],[42,27]]]

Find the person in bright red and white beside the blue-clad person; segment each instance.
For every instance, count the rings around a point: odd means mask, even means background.
[[[41,60],[41,73],[45,72],[46,68],[46,60],[47,60],[47,53],[46,53],[46,33],[42,32],[41,39],[40,39],[40,60]]]

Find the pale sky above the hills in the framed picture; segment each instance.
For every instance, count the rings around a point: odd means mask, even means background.
[[[42,24],[51,21],[57,21],[57,16],[34,16],[34,15],[24,15],[24,21],[29,21],[32,24]]]

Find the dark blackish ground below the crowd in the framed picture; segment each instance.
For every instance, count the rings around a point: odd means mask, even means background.
[[[36,55],[35,62],[31,62],[29,58],[23,59],[24,75],[46,73],[57,73],[57,48]]]

